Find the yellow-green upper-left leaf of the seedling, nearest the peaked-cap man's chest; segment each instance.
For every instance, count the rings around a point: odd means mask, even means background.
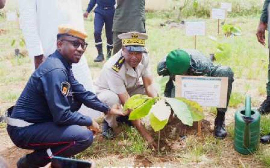
[[[134,110],[149,99],[150,97],[146,95],[133,95],[125,102],[124,111],[127,109]]]

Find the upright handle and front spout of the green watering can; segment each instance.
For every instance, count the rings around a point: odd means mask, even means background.
[[[245,116],[242,119],[245,121],[245,129],[243,135],[243,145],[248,148],[250,146],[250,123],[254,121],[251,116],[251,100],[250,95],[245,97]]]

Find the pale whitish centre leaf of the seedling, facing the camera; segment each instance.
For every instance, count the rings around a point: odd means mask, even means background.
[[[160,121],[168,120],[171,114],[171,108],[167,106],[164,99],[161,99],[152,106],[150,113],[154,114]]]

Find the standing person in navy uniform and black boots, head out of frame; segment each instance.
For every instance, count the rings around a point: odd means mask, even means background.
[[[88,14],[95,7],[95,17],[94,17],[94,38],[95,44],[97,47],[97,58],[94,59],[94,62],[104,61],[104,55],[102,51],[102,39],[101,31],[105,23],[106,38],[107,38],[107,59],[110,58],[113,41],[112,41],[112,24],[115,14],[115,0],[90,0],[86,12],[83,14],[85,18],[88,17]]]

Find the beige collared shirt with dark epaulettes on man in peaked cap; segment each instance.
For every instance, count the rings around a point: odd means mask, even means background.
[[[94,83],[97,93],[104,90],[111,90],[116,94],[122,94],[141,85],[142,77],[151,76],[149,57],[146,53],[143,53],[142,60],[135,69],[124,62],[119,72],[113,70],[112,66],[122,57],[121,54],[122,49],[104,64],[100,77],[98,77],[97,81]]]

